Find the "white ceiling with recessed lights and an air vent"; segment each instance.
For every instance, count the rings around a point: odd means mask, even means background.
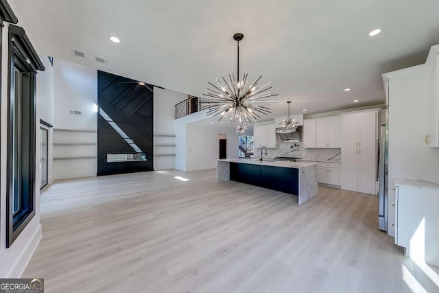
[[[381,104],[381,73],[425,62],[439,43],[438,0],[15,3],[40,53],[198,96],[236,72],[232,36],[242,32],[240,71],[272,82],[275,116],[285,116],[288,100],[292,114]],[[368,36],[375,28],[381,34]],[[108,65],[72,56],[71,47]]]

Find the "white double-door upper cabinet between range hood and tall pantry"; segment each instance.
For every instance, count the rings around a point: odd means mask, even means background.
[[[305,119],[303,145],[305,148],[340,148],[342,118],[330,116]]]

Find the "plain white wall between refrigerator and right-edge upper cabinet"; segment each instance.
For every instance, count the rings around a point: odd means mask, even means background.
[[[439,183],[439,149],[429,148],[429,68],[406,69],[390,78],[389,235],[394,235],[396,178]]]

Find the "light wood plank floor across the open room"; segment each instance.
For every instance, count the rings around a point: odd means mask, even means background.
[[[427,277],[378,230],[377,196],[320,187],[298,207],[215,174],[54,183],[23,277],[45,278],[45,292],[439,292],[439,270]]]

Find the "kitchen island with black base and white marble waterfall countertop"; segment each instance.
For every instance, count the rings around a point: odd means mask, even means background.
[[[317,163],[219,159],[217,182],[227,180],[294,194],[298,204],[318,194]]]

